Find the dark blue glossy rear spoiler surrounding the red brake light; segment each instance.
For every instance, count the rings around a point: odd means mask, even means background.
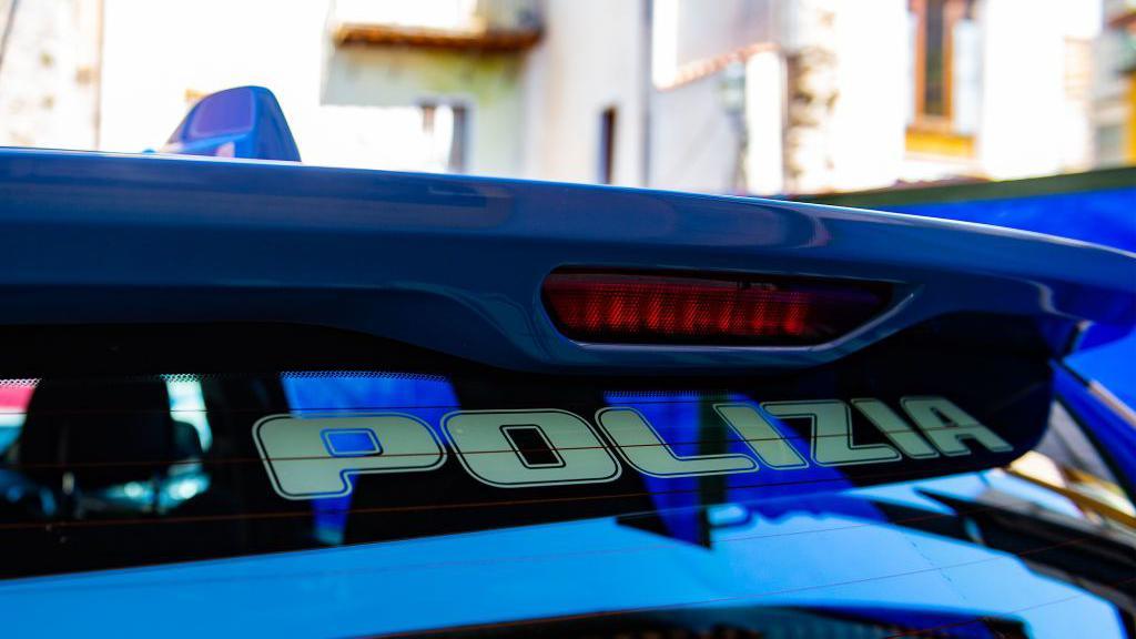
[[[1136,316],[1131,254],[747,198],[5,149],[0,225],[0,322],[295,322],[525,370],[800,367],[946,313]],[[580,345],[540,301],[566,265],[883,280],[897,301],[820,347]]]

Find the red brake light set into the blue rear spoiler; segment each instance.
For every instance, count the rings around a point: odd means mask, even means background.
[[[585,271],[552,273],[543,292],[563,334],[598,343],[817,345],[888,300],[875,282]]]

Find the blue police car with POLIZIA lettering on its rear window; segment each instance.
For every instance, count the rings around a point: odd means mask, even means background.
[[[162,151],[0,150],[6,637],[1136,630],[1131,254]]]

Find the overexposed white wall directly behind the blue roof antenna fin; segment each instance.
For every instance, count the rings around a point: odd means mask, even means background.
[[[258,84],[318,160],[326,15],[325,0],[106,0],[100,147],[158,147],[193,93]]]

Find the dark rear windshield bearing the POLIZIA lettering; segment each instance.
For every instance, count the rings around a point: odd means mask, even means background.
[[[754,513],[1036,449],[1052,368],[1014,326],[732,376],[517,373],[286,327],[30,330],[0,381],[0,575],[580,521],[708,548]]]

